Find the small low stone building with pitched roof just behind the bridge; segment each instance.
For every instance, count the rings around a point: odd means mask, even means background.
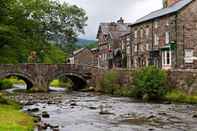
[[[70,64],[97,66],[95,54],[87,49],[81,48],[73,52],[72,57],[69,58]]]

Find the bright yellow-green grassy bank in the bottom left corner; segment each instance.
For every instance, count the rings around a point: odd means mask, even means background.
[[[0,94],[1,101],[4,101]],[[20,111],[20,106],[13,102],[0,103],[0,131],[33,131],[33,118]]]

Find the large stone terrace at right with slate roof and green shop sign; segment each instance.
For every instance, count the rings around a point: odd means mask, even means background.
[[[197,68],[197,1],[164,0],[163,4],[130,25],[133,66]]]

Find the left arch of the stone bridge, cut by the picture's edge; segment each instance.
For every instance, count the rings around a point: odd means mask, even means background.
[[[31,79],[31,77],[25,73],[20,73],[20,72],[4,72],[0,74],[0,79],[3,78],[7,78],[10,76],[16,76],[22,80],[24,80],[24,82],[27,85],[27,90],[31,89],[33,87],[33,80]]]

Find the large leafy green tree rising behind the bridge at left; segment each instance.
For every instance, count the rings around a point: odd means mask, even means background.
[[[84,33],[86,20],[83,9],[67,3],[2,0],[0,63],[27,63],[28,59],[33,63],[62,63],[64,55],[60,58],[60,48],[48,42],[49,34],[62,34],[66,43],[74,42],[79,33]],[[32,52],[36,54],[34,60]]]

